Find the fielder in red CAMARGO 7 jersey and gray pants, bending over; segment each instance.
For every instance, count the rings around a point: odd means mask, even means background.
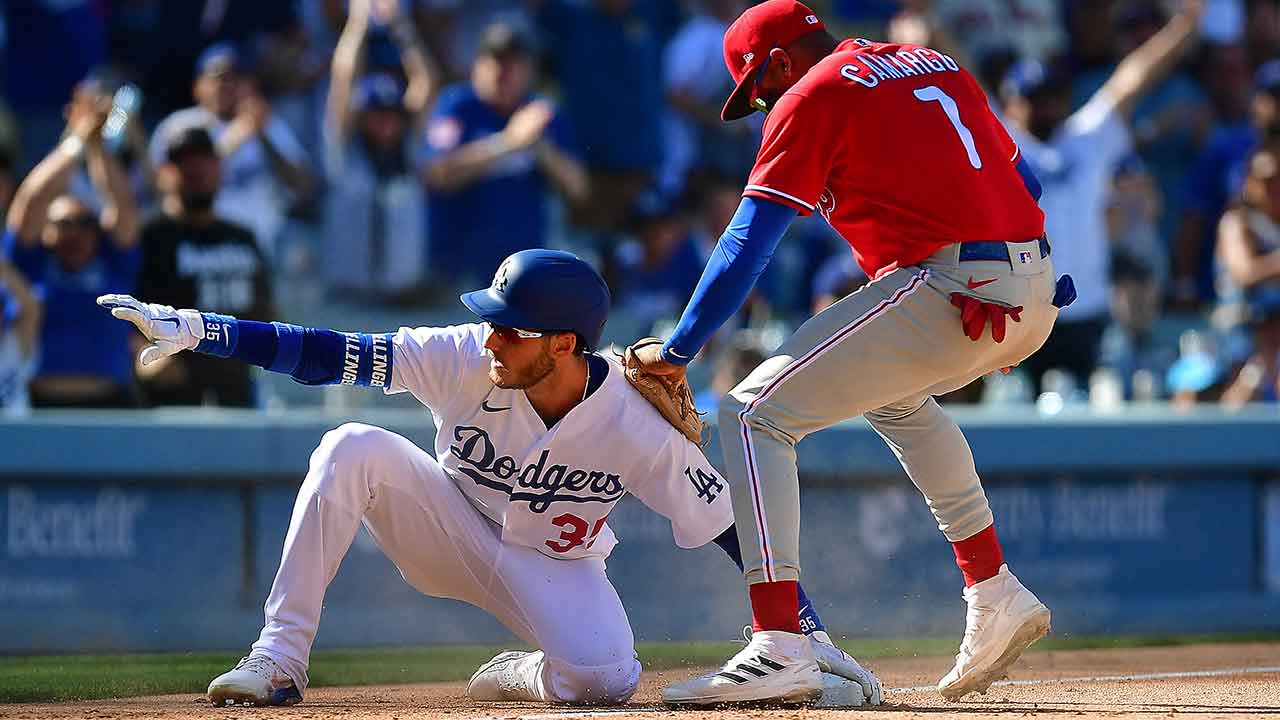
[[[737,87],[722,117],[767,111],[760,150],[678,325],[639,361],[684,373],[797,214],[820,213],[874,279],[801,325],[721,405],[756,630],[726,669],[760,671],[698,678],[666,700],[820,691],[796,625],[795,445],[856,415],[901,460],[965,578],[964,641],[938,688],[952,700],[986,691],[1048,632],[1050,612],[1004,564],[973,455],[933,396],[1024,360],[1073,299],[1070,278],[1055,283],[1039,184],[977,82],[936,50],[837,42],[805,5],[767,0],[726,31],[724,61]]]

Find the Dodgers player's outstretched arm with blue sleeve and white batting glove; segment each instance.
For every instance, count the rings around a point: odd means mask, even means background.
[[[138,355],[142,365],[191,350],[284,373],[302,384],[390,386],[392,333],[340,333],[238,320],[142,302],[132,295],[102,295],[97,304],[111,316],[133,323],[146,338]]]

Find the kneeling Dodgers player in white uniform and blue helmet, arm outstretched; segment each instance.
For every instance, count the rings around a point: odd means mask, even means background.
[[[618,703],[635,692],[631,626],[604,568],[616,544],[605,520],[623,495],[668,518],[678,546],[714,541],[739,557],[721,477],[616,361],[591,352],[609,311],[594,269],[568,252],[521,251],[462,302],[485,324],[367,334],[99,299],[146,336],[143,364],[191,350],[305,384],[410,392],[438,428],[434,457],[370,425],[324,436],[266,624],[209,685],[215,705],[301,702],[325,587],[361,523],[420,592],[481,607],[538,648],[483,665],[467,685],[480,701]],[[824,698],[879,703],[878,680],[831,644],[805,605],[820,646],[810,655],[831,673]]]

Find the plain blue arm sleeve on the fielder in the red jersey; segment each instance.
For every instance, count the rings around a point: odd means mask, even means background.
[[[685,365],[728,320],[773,258],[796,211],[780,202],[744,197],[716,243],[680,324],[662,348],[668,361]]]

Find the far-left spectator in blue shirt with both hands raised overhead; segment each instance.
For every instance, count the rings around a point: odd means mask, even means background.
[[[31,383],[37,407],[134,405],[129,333],[95,304],[104,292],[132,292],[138,273],[133,193],[120,163],[100,142],[109,106],[102,96],[77,94],[64,140],[18,187],[5,218],[0,245],[45,305]],[[81,160],[104,199],[97,217],[65,195]]]

